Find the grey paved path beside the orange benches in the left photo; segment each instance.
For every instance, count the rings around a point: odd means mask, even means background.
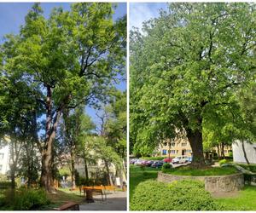
[[[102,201],[101,195],[94,195],[94,203],[79,205],[80,210],[127,210],[126,192],[116,192],[107,195],[107,200]]]

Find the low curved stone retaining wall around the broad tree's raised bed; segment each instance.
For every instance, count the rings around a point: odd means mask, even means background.
[[[183,179],[204,181],[206,190],[210,193],[228,193],[241,190],[244,187],[244,177],[241,173],[229,176],[173,176],[160,171],[157,177],[157,181],[161,182],[172,182]]]

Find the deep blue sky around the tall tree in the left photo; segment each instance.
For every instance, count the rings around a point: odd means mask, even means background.
[[[49,17],[51,9],[62,7],[64,10],[70,9],[71,3],[41,3],[44,9],[44,16]],[[0,3],[0,43],[3,43],[3,36],[9,33],[19,33],[20,26],[25,23],[25,16],[33,3]],[[126,14],[126,3],[117,3],[117,8],[113,14],[113,20]],[[116,86],[120,90],[126,89],[126,82],[121,82]],[[86,112],[98,124],[96,112],[90,107],[86,107]]]

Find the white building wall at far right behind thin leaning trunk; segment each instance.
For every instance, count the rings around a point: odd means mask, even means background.
[[[244,153],[242,151],[242,146],[240,141],[236,141],[232,144],[233,149],[233,159],[236,163],[247,163],[244,158]],[[244,149],[247,153],[247,159],[251,164],[256,164],[256,143],[244,142]]]

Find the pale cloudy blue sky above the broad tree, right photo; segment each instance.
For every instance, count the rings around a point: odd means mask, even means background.
[[[160,9],[167,9],[167,3],[130,3],[130,30],[132,26],[141,29],[143,21],[159,16]]]

